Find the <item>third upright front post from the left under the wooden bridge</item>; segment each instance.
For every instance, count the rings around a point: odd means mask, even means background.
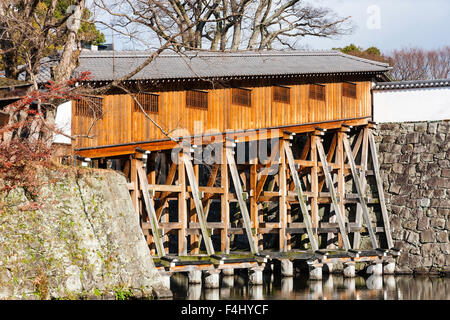
[[[227,147],[222,147],[221,162],[220,162],[220,186],[223,188],[223,193],[220,195],[220,214],[223,223],[223,229],[220,234],[220,249],[224,253],[230,253],[230,237],[228,229],[230,227],[230,204],[228,202],[228,194],[230,192],[230,185],[228,180],[228,165],[227,165]]]

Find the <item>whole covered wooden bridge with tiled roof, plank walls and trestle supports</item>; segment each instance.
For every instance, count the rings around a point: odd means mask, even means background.
[[[77,71],[101,87],[149,54],[86,52]],[[371,122],[388,70],[333,51],[161,55],[73,102],[73,151],[128,178],[161,270],[252,268],[255,283],[269,262],[285,275],[304,262],[312,278],[336,262],[392,272]]]

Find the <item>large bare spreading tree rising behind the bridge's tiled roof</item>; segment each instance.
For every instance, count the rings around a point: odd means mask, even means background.
[[[338,17],[332,10],[304,0],[94,2],[115,18],[118,32],[130,34],[134,25],[153,31],[162,41],[171,39],[186,50],[294,48],[305,36],[333,37],[352,29],[350,17]]]

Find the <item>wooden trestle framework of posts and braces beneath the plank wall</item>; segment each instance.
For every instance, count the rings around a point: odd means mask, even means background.
[[[361,234],[370,238],[362,249],[393,248],[374,127],[277,129],[279,139],[265,140],[265,161],[256,133],[217,142],[212,164],[195,161],[202,146],[183,145],[174,161],[172,150],[136,149],[122,170],[152,255],[229,254],[239,241],[254,256],[352,251],[362,248]]]

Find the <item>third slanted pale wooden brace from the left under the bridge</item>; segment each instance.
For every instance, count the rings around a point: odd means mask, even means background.
[[[239,208],[241,209],[242,218],[244,221],[244,228],[247,233],[247,239],[250,245],[250,250],[252,254],[258,253],[258,245],[254,241],[254,233],[252,231],[252,222],[248,214],[247,204],[244,201],[243,190],[241,181],[239,178],[239,172],[236,167],[236,162],[234,161],[234,154],[232,150],[232,145],[227,142],[226,155],[228,167],[230,168],[231,178],[233,180],[234,189],[236,190],[236,197],[238,198]]]

